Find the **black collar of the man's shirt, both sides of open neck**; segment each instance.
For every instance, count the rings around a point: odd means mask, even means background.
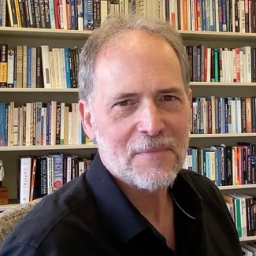
[[[109,171],[102,164],[97,153],[88,169],[87,182],[95,196],[95,203],[102,218],[118,239],[128,243],[130,239],[150,228],[150,223],[118,187]],[[202,212],[202,198],[180,171],[176,183],[169,188],[170,195],[180,209],[192,220],[197,220]]]

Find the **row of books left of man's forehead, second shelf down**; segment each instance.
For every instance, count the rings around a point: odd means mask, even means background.
[[[0,44],[0,87],[77,88],[79,48]]]

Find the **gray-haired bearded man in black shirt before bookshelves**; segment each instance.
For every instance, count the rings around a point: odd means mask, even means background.
[[[183,170],[191,89],[180,35],[156,20],[114,17],[80,56],[91,168],[43,198],[1,256],[240,256],[220,191]]]

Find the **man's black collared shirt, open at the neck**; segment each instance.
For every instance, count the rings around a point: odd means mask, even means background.
[[[0,256],[242,255],[232,217],[209,179],[181,170],[169,195],[176,253],[129,202],[97,154],[86,173],[44,197],[20,221]]]

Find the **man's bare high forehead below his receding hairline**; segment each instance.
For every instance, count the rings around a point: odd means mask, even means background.
[[[102,47],[95,60],[95,77],[99,86],[108,89],[117,84],[121,89],[124,84],[160,86],[173,81],[183,85],[173,47],[165,39],[138,31],[118,35]]]

